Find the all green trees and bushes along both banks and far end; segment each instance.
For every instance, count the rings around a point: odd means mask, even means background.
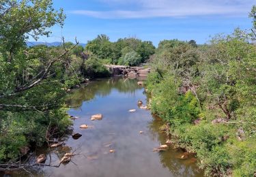
[[[164,40],[158,48],[136,38],[110,42],[98,35],[85,48],[27,48],[29,36],[48,36],[65,15],[51,0],[0,2],[0,163],[20,148],[41,146],[71,124],[66,89],[84,78],[109,76],[103,64],[139,65],[150,59],[152,112],[169,123],[173,143],[196,152],[208,175],[256,173],[256,6],[252,32],[236,29],[210,44]]]

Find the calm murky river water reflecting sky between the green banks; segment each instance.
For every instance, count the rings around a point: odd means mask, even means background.
[[[46,163],[51,159],[52,165],[59,163],[66,152],[74,152],[76,156],[60,167],[40,167],[33,176],[203,176],[195,158],[180,159],[184,153],[180,149],[171,147],[168,151],[153,152],[153,148],[167,140],[159,130],[164,123],[149,110],[137,106],[138,100],[147,103],[144,88],[137,81],[107,78],[72,91],[67,103],[77,108],[68,113],[79,116],[73,120],[73,128],[74,133],[81,133],[81,138],[74,140],[70,135],[63,146],[36,153],[46,153]],[[137,111],[128,112],[131,109]],[[90,120],[93,114],[102,114],[102,120]],[[83,124],[90,128],[80,129]],[[115,152],[109,152],[111,149]]]

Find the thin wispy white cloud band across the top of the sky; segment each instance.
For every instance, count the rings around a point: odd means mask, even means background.
[[[74,10],[95,18],[151,18],[186,16],[247,16],[255,0],[99,0],[119,10]],[[139,10],[127,10],[136,7]]]

